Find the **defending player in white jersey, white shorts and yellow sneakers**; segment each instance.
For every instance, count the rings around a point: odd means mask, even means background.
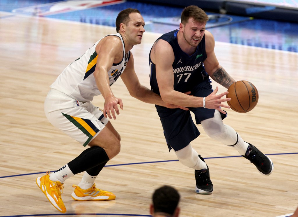
[[[95,187],[94,180],[105,164],[120,151],[120,135],[108,118],[116,119],[122,100],[114,96],[110,86],[121,75],[131,96],[141,101],[168,108],[178,108],[139,83],[130,50],[142,41],[144,19],[139,10],[128,8],[116,19],[117,34],[97,41],[80,58],[69,64],[51,85],[44,110],[49,122],[64,133],[87,146],[77,158],[63,164],[54,173],[36,179],[46,198],[62,213],[66,207],[60,190],[66,179],[84,172],[72,198],[77,201],[114,200],[111,192]],[[94,96],[105,99],[103,110],[94,106]],[[182,109],[187,109],[180,107]]]

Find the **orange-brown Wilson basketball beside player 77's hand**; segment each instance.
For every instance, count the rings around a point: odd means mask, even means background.
[[[228,91],[226,98],[231,98],[231,101],[227,101],[227,103],[235,112],[249,112],[258,103],[257,88],[249,81],[236,81],[229,87]]]

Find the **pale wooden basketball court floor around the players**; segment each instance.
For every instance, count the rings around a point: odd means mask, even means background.
[[[0,13],[0,216],[53,216],[59,213],[35,184],[45,171],[60,168],[84,147],[59,132],[44,115],[49,85],[64,67],[112,27]],[[132,52],[136,72],[149,87],[148,53],[160,34],[145,32]],[[114,201],[73,201],[68,179],[62,194],[66,215],[148,216],[153,190],[169,184],[181,194],[181,216],[275,217],[298,206],[298,53],[216,42],[220,64],[235,80],[251,81],[259,102],[249,113],[228,110],[224,122],[274,162],[266,177],[239,153],[205,135],[192,142],[210,168],[212,195],[194,192],[193,170],[169,153],[152,104],[129,96],[121,79],[113,86],[124,110],[112,120],[122,149],[98,177],[97,187]],[[215,82],[212,83],[216,87]],[[220,91],[225,91],[220,87]],[[103,98],[94,98],[102,107]]]

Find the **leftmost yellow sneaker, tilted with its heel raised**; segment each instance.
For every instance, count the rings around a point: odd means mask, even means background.
[[[59,181],[51,181],[49,172],[46,172],[46,175],[44,176],[38,177],[36,179],[36,184],[57,210],[59,210],[61,213],[66,212],[60,192],[60,190],[63,192],[63,184],[61,184]]]

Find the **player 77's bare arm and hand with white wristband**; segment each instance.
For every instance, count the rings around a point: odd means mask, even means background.
[[[175,59],[173,48],[171,45],[162,39],[153,44],[150,58],[156,65],[156,80],[159,87],[160,96],[164,102],[175,104],[183,107],[203,107],[203,98],[189,96],[179,91],[174,90],[174,74],[173,61]],[[228,106],[222,104],[226,99],[221,99],[228,92],[215,95],[218,88],[213,93],[206,97],[206,107],[217,109],[222,113],[220,107]]]

